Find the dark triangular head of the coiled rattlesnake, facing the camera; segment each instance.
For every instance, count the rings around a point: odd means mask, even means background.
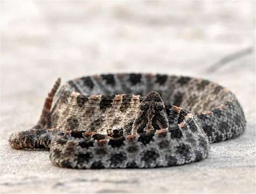
[[[168,126],[168,117],[161,96],[157,92],[150,92],[140,104],[132,134],[167,129]]]

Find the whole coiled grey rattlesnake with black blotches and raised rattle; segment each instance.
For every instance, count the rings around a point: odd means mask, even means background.
[[[205,79],[101,74],[56,81],[36,126],[11,134],[15,149],[47,149],[65,168],[154,168],[203,160],[210,143],[246,127],[236,96]],[[58,89],[59,88],[59,89]],[[181,108],[182,107],[182,108]]]

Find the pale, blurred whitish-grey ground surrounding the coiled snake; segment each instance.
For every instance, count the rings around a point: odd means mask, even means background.
[[[1,1],[2,193],[255,192],[254,1]],[[58,78],[108,72],[203,77],[233,91],[247,129],[212,144],[209,158],[180,167],[72,170],[54,167],[47,151],[14,150],[9,135],[37,122]]]

